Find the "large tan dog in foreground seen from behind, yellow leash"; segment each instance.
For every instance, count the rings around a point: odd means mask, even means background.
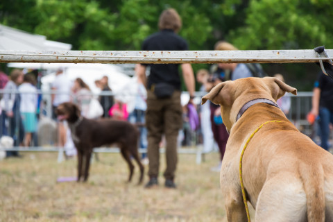
[[[203,97],[221,105],[230,137],[222,162],[220,184],[228,221],[247,221],[239,182],[243,157],[247,200],[255,221],[333,221],[333,156],[300,133],[275,107],[285,92],[296,89],[277,78],[242,78],[216,85]]]

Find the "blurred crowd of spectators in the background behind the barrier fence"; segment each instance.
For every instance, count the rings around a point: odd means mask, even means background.
[[[216,50],[236,50],[234,46],[228,42],[218,42],[215,46]],[[241,69],[241,71],[237,71]],[[212,65],[210,70],[200,69],[196,72],[196,81],[200,84],[199,92],[205,94],[212,87],[222,83],[225,80],[235,80],[237,78],[245,78],[254,76],[250,69],[244,64],[216,64]],[[321,76],[321,75],[320,75]],[[281,74],[275,74],[274,77],[284,81]],[[1,94],[0,102],[0,135],[9,136],[13,139],[14,146],[39,146],[38,140],[38,124],[44,121],[42,110],[42,94],[37,93],[40,84],[37,83],[37,73],[35,71],[26,72],[22,69],[12,69],[10,75],[0,72],[0,87],[5,92]],[[54,141],[54,146],[67,147],[67,156],[71,157],[76,154],[74,144],[71,142],[70,132],[64,123],[56,120],[54,110],[63,102],[71,101],[76,103],[81,110],[83,117],[96,119],[99,117],[113,118],[123,121],[130,121],[137,125],[140,131],[140,148],[147,147],[147,129],[145,126],[146,114],[146,87],[140,78],[137,78],[137,92],[135,93],[134,108],[128,108],[121,96],[114,96],[109,86],[108,76],[95,80],[95,85],[101,90],[100,96],[94,96],[87,83],[82,78],[69,80],[63,69],[56,71],[56,79],[51,89],[56,92],[52,94],[53,121],[57,122],[58,137]],[[318,87],[316,81],[315,90]],[[14,90],[10,93],[11,90]],[[18,93],[15,93],[18,92]],[[109,93],[103,95],[103,92]],[[111,92],[111,94],[110,94]],[[318,99],[317,99],[318,100]],[[288,115],[291,107],[290,96],[283,96],[278,100],[278,105],[282,111]],[[317,102],[318,103],[318,102]],[[311,110],[316,112],[316,110]],[[325,114],[325,112],[324,112]],[[316,120],[320,119],[319,113],[315,113]],[[325,118],[325,117],[323,117]],[[309,120],[311,121],[311,120]],[[314,120],[311,122],[314,123]],[[318,121],[318,123],[320,123]],[[324,129],[323,147],[328,148],[331,144],[328,142],[332,125],[327,121]],[[327,126],[326,126],[327,125]],[[318,128],[318,136],[321,136],[321,128]],[[328,133],[327,133],[328,131]],[[228,141],[228,133],[223,125],[218,105],[213,103],[205,103],[204,105],[186,104],[182,106],[182,128],[178,135],[179,146],[197,146],[202,145],[203,153],[210,153],[218,150],[220,153],[220,162],[216,167],[212,167],[212,171],[219,171],[221,160],[225,151],[225,144]],[[165,140],[162,139],[160,146],[164,146]],[[17,151],[8,151],[7,157],[19,157]],[[148,162],[146,153],[142,154],[142,160]]]

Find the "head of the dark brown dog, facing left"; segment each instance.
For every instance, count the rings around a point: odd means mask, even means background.
[[[58,120],[66,120],[69,123],[74,123],[80,117],[80,108],[74,103],[61,103],[56,109]]]

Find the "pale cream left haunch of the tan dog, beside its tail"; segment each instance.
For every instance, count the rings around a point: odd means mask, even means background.
[[[307,221],[307,197],[296,175],[274,176],[259,194],[255,221]]]

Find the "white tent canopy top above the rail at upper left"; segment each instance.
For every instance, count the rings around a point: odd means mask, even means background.
[[[71,44],[46,40],[36,35],[0,24],[1,50],[70,50]]]

